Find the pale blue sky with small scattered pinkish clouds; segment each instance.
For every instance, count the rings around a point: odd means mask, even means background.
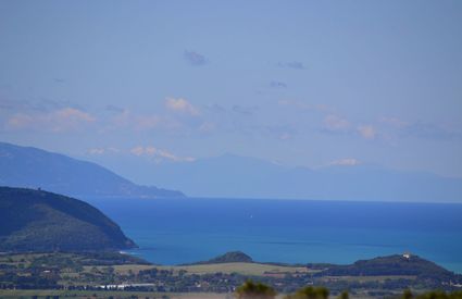
[[[461,28],[455,0],[2,0],[0,141],[462,177]]]

